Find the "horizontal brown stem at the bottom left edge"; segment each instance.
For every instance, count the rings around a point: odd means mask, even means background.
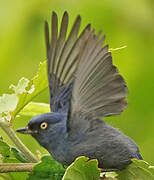
[[[36,163],[0,163],[0,173],[31,172]]]

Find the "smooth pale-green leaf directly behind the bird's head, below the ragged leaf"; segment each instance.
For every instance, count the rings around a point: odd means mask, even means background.
[[[30,102],[20,111],[19,114],[24,116],[35,116],[47,112],[50,112],[49,104]]]

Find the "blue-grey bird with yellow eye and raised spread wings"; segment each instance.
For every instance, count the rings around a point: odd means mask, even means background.
[[[77,157],[97,159],[102,171],[120,171],[142,160],[137,144],[103,119],[127,107],[128,88],[113,65],[102,30],[91,24],[79,33],[81,16],[68,33],[69,14],[45,21],[51,112],[38,114],[16,132],[30,134],[54,159],[69,166]]]

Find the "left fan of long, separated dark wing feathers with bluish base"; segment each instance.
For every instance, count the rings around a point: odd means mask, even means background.
[[[78,16],[66,38],[68,18],[68,13],[65,12],[58,35],[58,18],[55,12],[52,13],[51,39],[48,23],[45,22],[51,111],[62,109],[70,101],[79,52],[88,38],[88,32],[90,32],[90,25],[88,25],[78,37],[81,23],[81,18]]]

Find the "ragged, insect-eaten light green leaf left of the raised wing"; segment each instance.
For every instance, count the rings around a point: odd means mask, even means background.
[[[45,61],[40,63],[38,73],[32,80],[21,78],[17,86],[10,86],[13,94],[3,94],[0,97],[0,120],[2,121],[2,117],[5,116],[11,124],[24,106],[47,87],[48,81]]]

